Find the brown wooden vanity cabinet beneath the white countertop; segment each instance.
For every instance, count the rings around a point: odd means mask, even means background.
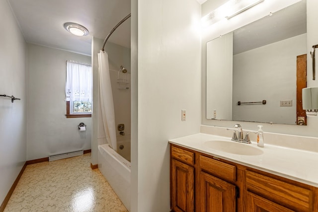
[[[172,212],[318,212],[318,188],[170,144]]]

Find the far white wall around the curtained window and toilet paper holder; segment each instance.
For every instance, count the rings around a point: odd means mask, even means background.
[[[27,160],[91,148],[91,118],[66,118],[66,61],[90,64],[85,55],[27,44]],[[78,125],[85,123],[86,131]]]

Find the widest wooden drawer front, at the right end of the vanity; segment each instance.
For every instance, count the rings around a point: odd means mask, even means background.
[[[309,212],[313,209],[311,190],[248,170],[246,189],[298,212]]]

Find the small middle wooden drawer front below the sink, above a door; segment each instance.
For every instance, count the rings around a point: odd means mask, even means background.
[[[237,180],[237,167],[216,159],[200,155],[200,168],[230,182]]]

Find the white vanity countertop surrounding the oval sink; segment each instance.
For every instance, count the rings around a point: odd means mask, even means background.
[[[231,141],[231,138],[199,133],[178,139],[172,139],[169,140],[169,142],[202,153],[217,156],[241,165],[318,187],[317,152],[270,145],[266,144],[266,141],[263,148],[258,147],[254,142],[251,144],[240,143],[242,145],[251,145],[260,148],[263,151],[263,154],[260,155],[232,154],[215,150],[204,145],[206,141],[220,140]]]

